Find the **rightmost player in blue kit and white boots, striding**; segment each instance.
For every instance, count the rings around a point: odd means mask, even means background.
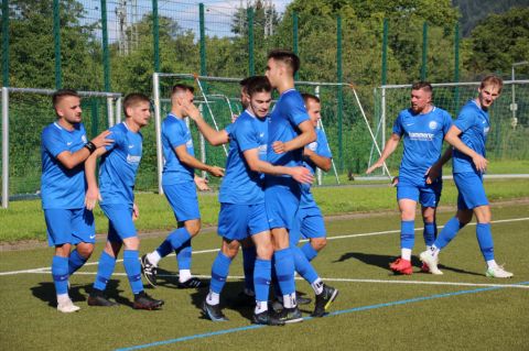
[[[439,253],[457,232],[465,227],[472,216],[476,216],[476,237],[483,257],[487,264],[486,276],[509,278],[512,273],[499,266],[494,257],[494,242],[490,230],[490,206],[483,186],[483,174],[488,161],[485,158],[487,134],[490,130],[488,109],[501,94],[503,80],[496,76],[485,77],[478,88],[476,99],[468,101],[460,111],[454,125],[445,136],[453,147],[452,168],[457,187],[457,212],[449,220],[438,239],[421,253],[422,262],[431,270],[438,268]],[[443,163],[438,163],[438,168]],[[439,271],[441,272],[441,271]]]

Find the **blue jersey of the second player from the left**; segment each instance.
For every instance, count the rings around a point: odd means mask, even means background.
[[[134,183],[140,166],[142,140],[141,133],[132,132],[125,122],[110,128],[109,138],[114,140],[106,146],[99,165],[99,191],[101,205],[134,204]]]

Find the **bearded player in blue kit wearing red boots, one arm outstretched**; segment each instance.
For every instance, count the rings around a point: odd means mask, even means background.
[[[432,103],[432,86],[415,83],[411,87],[411,108],[402,110],[393,124],[393,133],[384,147],[380,158],[370,166],[369,174],[384,165],[386,158],[397,149],[400,139],[404,140],[404,151],[397,184],[397,201],[400,209],[401,256],[389,267],[395,273],[412,274],[411,250],[414,245],[414,220],[417,202],[421,204],[424,222],[423,237],[427,248],[433,244],[436,234],[435,210],[441,198],[441,176],[430,179],[430,168],[441,155],[443,139],[452,125],[449,112]],[[423,266],[422,271],[431,267]]]

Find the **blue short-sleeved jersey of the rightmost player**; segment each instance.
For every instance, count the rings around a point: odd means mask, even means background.
[[[476,153],[486,156],[485,143],[490,130],[490,120],[488,112],[477,106],[476,101],[468,101],[460,111],[454,125],[462,131],[461,141]],[[472,157],[454,149],[452,155],[452,165],[454,173],[476,172]]]

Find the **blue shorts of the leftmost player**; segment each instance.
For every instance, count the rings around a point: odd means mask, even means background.
[[[94,213],[86,208],[45,209],[44,219],[50,246],[96,242]]]

